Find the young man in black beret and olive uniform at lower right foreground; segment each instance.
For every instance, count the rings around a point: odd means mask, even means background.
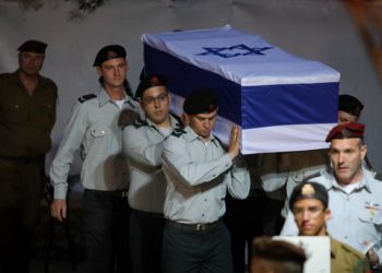
[[[327,233],[326,222],[331,217],[327,209],[329,195],[325,187],[315,182],[298,185],[289,200],[299,236],[329,236],[331,240],[331,272],[370,272],[368,259],[353,247],[343,244]]]

